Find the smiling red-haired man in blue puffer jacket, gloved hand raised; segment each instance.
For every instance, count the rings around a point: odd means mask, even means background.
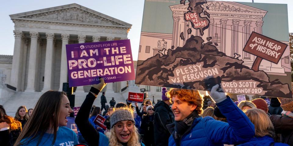
[[[248,117],[224,92],[219,85],[212,87],[209,95],[219,107],[228,123],[210,116],[202,118],[203,96],[197,90],[171,88],[166,94],[172,101],[175,123],[167,125],[171,133],[169,146],[223,146],[249,141],[255,129]],[[221,90],[221,89],[220,89]]]

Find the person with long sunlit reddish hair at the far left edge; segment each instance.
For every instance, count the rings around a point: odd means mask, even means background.
[[[0,105],[0,144],[12,146],[21,131],[21,123],[11,116],[7,116]]]

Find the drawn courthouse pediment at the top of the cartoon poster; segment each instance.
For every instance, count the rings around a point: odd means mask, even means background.
[[[187,10],[189,2],[179,5],[170,6],[171,10],[174,11],[182,11]],[[204,10],[211,10],[215,12],[218,11],[234,11],[234,12],[251,12],[251,13],[263,13],[266,14],[267,11],[262,9],[257,9],[248,5],[243,5],[237,2],[224,2],[224,1],[207,1],[204,5],[202,5]]]

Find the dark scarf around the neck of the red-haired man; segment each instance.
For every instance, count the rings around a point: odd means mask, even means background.
[[[182,121],[175,121],[174,138],[177,146],[180,146],[180,141],[183,134],[192,126],[193,120],[197,117],[199,117],[197,111],[193,111],[189,116],[187,116]]]

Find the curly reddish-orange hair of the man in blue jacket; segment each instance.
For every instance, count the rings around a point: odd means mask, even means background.
[[[203,112],[203,96],[198,90],[170,88],[166,92],[170,103],[172,102],[172,97],[175,95],[178,96],[178,99],[188,102],[189,105],[196,105],[195,111],[197,111],[197,114],[200,115]]]

